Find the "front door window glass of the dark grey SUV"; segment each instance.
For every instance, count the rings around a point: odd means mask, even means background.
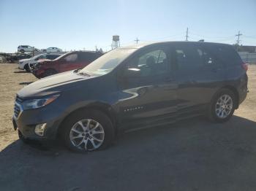
[[[162,49],[144,52],[132,59],[128,70],[140,71],[140,77],[154,77],[168,72],[167,52]]]

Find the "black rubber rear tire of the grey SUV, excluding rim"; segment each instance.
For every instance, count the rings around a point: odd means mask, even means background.
[[[217,117],[217,114],[215,112],[215,106],[217,104],[217,100],[219,99],[219,97],[221,95],[225,95],[225,94],[230,95],[230,97],[232,98],[233,107],[232,107],[232,110],[231,110],[230,114],[228,114],[227,117],[219,118],[219,117]],[[211,107],[210,107],[210,111],[209,111],[210,112],[209,118],[210,118],[210,120],[213,120],[215,122],[226,122],[227,120],[230,119],[230,117],[233,116],[233,113],[235,112],[235,107],[236,107],[236,96],[233,93],[233,91],[228,90],[228,89],[219,90],[219,92],[214,96],[213,100],[211,101]]]

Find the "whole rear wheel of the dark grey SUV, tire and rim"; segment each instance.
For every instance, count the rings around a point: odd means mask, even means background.
[[[221,89],[211,101],[208,118],[213,122],[226,122],[236,108],[236,95],[229,89]]]

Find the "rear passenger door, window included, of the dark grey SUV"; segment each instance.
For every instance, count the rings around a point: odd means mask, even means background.
[[[198,114],[210,103],[214,93],[222,87],[224,69],[203,44],[176,44],[175,79],[178,83],[178,112]]]

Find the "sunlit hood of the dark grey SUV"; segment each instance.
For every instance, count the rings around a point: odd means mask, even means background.
[[[45,77],[44,79],[39,79],[36,82],[23,87],[17,94],[20,98],[24,99],[51,95],[60,93],[70,87],[76,87],[80,85],[80,82],[91,78],[94,77],[83,77],[75,74],[74,71],[67,71],[61,74]]]

